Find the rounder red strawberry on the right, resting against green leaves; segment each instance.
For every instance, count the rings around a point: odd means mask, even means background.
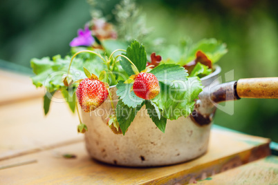
[[[135,77],[133,91],[142,99],[153,99],[160,92],[158,79],[151,73],[140,72]]]

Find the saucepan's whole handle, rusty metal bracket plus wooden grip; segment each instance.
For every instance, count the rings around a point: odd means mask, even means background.
[[[190,117],[199,126],[210,124],[216,104],[241,98],[278,99],[278,77],[239,79],[207,88],[199,94]]]

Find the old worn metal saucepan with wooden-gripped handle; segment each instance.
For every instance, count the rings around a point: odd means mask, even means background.
[[[82,121],[89,128],[85,133],[86,148],[94,159],[122,166],[162,166],[185,162],[207,151],[210,126],[221,101],[240,98],[278,98],[278,78],[240,79],[220,84],[216,70],[201,79],[203,92],[196,100],[195,110],[188,117],[167,121],[162,133],[151,121],[145,108],[136,115],[127,133],[115,135],[106,125],[111,104],[104,104],[91,113],[82,113]],[[118,99],[111,87],[113,99]],[[116,102],[115,102],[116,104]]]

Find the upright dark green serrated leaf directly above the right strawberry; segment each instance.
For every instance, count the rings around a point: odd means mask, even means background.
[[[145,46],[140,45],[138,41],[133,41],[131,43],[131,46],[127,48],[127,53],[125,56],[127,56],[133,62],[136,68],[138,68],[139,72],[145,70],[147,64],[147,54],[145,51]],[[131,76],[135,74],[131,67],[132,64],[124,57],[122,57],[122,60],[120,60],[120,65],[127,72],[127,75]]]

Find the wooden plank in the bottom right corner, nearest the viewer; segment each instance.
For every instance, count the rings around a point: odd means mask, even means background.
[[[271,155],[196,184],[278,184],[278,157]]]

